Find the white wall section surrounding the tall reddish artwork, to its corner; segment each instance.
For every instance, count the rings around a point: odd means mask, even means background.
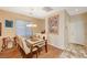
[[[51,15],[54,15],[55,13],[59,14],[59,21],[58,21],[58,34],[51,34],[48,33],[48,26],[47,26],[47,18],[51,17]],[[64,50],[65,48],[65,45],[67,44],[67,33],[65,31],[67,31],[66,28],[66,22],[68,22],[65,17],[68,17],[66,15],[66,11],[65,10],[62,10],[62,11],[56,11],[54,13],[51,13],[47,18],[46,18],[46,35],[47,35],[47,40],[48,40],[48,43],[58,47],[58,48],[62,48]]]

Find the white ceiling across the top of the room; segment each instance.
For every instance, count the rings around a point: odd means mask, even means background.
[[[44,19],[47,15],[47,13],[53,10],[66,10],[69,13],[69,15],[75,15],[87,12],[87,7],[0,7],[0,10]]]

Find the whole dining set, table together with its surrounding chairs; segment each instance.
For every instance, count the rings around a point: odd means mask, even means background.
[[[47,40],[45,39],[45,36],[43,36],[43,39],[40,39],[35,35],[31,36],[30,39],[19,35],[14,37],[3,37],[2,50],[0,53],[9,51],[10,53],[8,54],[11,54],[13,53],[15,47],[20,52],[22,58],[32,58],[34,55],[35,58],[37,58],[43,47],[45,53],[47,53]]]

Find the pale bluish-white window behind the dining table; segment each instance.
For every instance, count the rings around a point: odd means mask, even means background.
[[[17,20],[15,22],[15,29],[17,29],[17,35],[23,35],[23,36],[30,36],[32,35],[32,29],[28,28],[26,24],[30,24],[31,22]]]

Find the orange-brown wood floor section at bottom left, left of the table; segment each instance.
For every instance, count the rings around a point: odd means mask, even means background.
[[[0,52],[0,58],[21,58],[18,47]]]

